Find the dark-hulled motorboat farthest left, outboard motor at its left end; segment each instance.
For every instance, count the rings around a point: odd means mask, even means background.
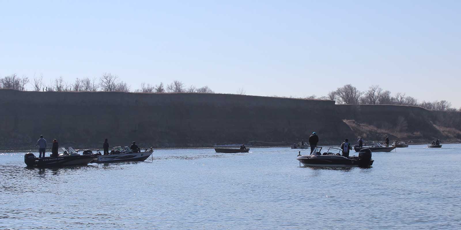
[[[32,153],[24,155],[24,163],[28,167],[65,167],[71,165],[88,165],[93,161],[94,155],[68,155],[68,156],[47,156],[37,158]]]

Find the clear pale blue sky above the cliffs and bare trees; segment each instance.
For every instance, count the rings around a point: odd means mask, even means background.
[[[379,85],[461,107],[461,1],[0,0],[0,77],[260,96]],[[30,89],[32,86],[29,86]]]

